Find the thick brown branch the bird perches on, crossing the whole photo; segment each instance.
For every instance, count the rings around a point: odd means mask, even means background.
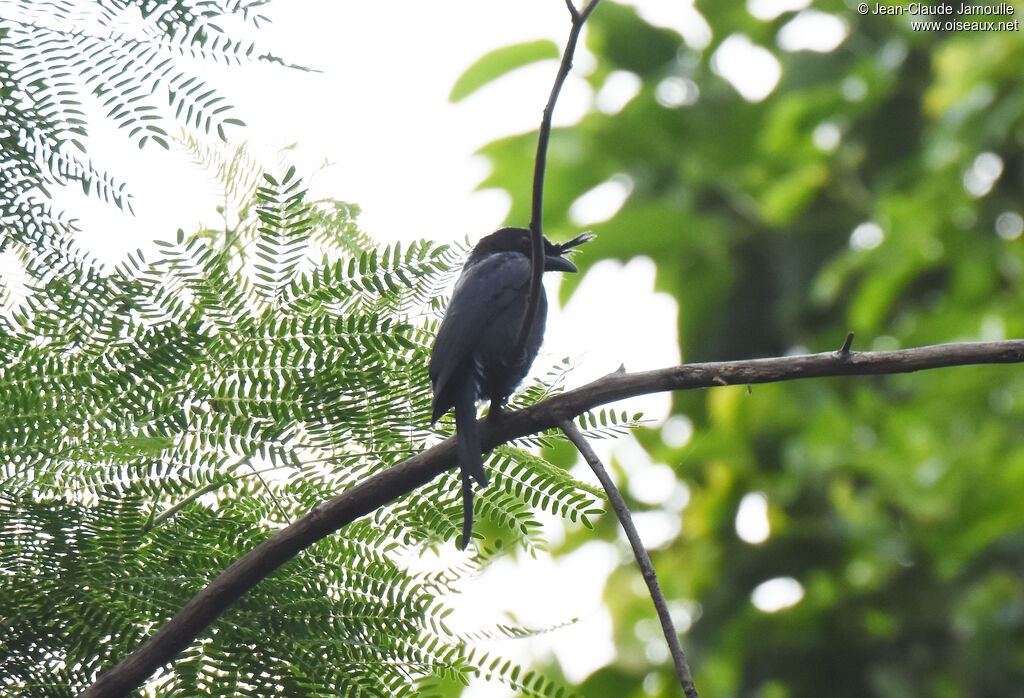
[[[1024,362],[1024,340],[939,344],[899,351],[830,351],[748,361],[690,363],[639,374],[616,372],[525,409],[506,412],[501,420],[482,420],[480,441],[482,448],[489,450],[512,439],[554,429],[563,421],[607,402],[648,393],[826,376],[902,374],[965,364],[1020,362]],[[302,550],[455,466],[455,437],[452,437],[319,505],[224,570],[145,643],[101,675],[80,697],[127,696],[158,668],[171,662],[246,592]]]

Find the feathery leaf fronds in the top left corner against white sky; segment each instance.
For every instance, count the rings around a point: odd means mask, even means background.
[[[281,62],[242,37],[266,0],[0,2],[0,251],[59,247],[68,223],[53,185],[130,208],[125,184],[86,152],[91,113],[142,147],[168,147],[165,124],[225,137],[242,122],[198,63]],[[54,254],[47,263],[58,260]],[[44,265],[45,266],[45,265]]]

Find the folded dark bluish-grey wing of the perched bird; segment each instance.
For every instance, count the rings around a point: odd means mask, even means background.
[[[430,354],[434,420],[455,403],[450,383],[460,366],[475,370],[471,352],[484,340],[494,344],[495,332],[515,337],[528,287],[529,259],[517,253],[489,255],[459,276]]]

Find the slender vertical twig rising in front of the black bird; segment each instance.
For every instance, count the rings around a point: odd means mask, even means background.
[[[555,82],[551,86],[551,94],[548,95],[548,103],[544,107],[544,115],[541,118],[541,128],[537,133],[537,157],[534,160],[534,200],[530,208],[529,231],[530,231],[530,269],[529,295],[526,298],[526,310],[523,312],[522,321],[519,323],[519,332],[516,334],[515,342],[512,343],[512,352],[509,356],[515,361],[515,357],[522,354],[526,346],[526,337],[529,335],[529,328],[537,317],[537,307],[541,302],[541,277],[544,275],[544,172],[548,165],[548,142],[551,140],[551,116],[555,112],[555,102],[558,101],[558,94],[565,84],[565,79],[572,70],[572,55],[575,53],[577,43],[580,40],[580,32],[583,30],[587,17],[591,15],[600,0],[590,0],[583,11],[578,10],[571,0],[566,0],[565,4],[569,8],[572,17],[572,27],[569,29],[569,38],[565,42],[562,50],[562,60],[558,66],[558,74]]]

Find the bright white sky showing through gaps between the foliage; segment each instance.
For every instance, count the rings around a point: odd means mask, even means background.
[[[675,27],[691,43],[707,41],[707,28],[689,3],[638,4],[649,19]],[[473,152],[497,137],[537,127],[555,63],[521,70],[460,104],[450,104],[447,95],[458,76],[494,48],[542,38],[562,45],[568,30],[563,0],[288,0],[271,6],[268,13],[273,23],[262,32],[260,46],[322,72],[244,68],[223,74],[225,81],[218,80],[221,74],[214,71],[213,84],[248,124],[245,130],[233,131],[232,138],[249,141],[267,163],[283,146],[295,143],[289,161],[305,175],[325,161],[331,163],[313,179],[314,192],[358,204],[364,210],[361,227],[381,242],[467,235],[476,241],[503,222],[508,210],[505,194],[474,192],[487,165]],[[740,63],[743,49],[730,49],[738,51]],[[721,58],[720,72],[728,70],[726,63],[732,60],[725,54]],[[575,63],[578,73],[587,71],[593,57],[581,46]],[[761,97],[777,79],[768,70]],[[739,84],[736,87],[748,96]],[[748,98],[758,98],[757,93],[754,89],[755,96]],[[570,78],[558,102],[556,124],[574,123],[593,99],[583,81]],[[115,134],[96,129],[94,135],[93,157],[100,167],[129,182],[136,212],[130,217],[80,194],[61,194],[60,203],[77,212],[85,230],[81,243],[100,259],[115,262],[130,250],[150,247],[154,237],[173,235],[179,227],[193,230],[201,221],[218,222],[216,185],[182,155],[164,154],[158,147],[139,154]],[[608,194],[615,195],[613,190]],[[600,195],[592,199],[596,201],[589,204],[596,212],[617,208],[617,203],[602,202]],[[587,211],[580,213],[588,217]],[[586,255],[586,248],[581,254]],[[629,370],[678,363],[675,301],[653,293],[653,278],[654,265],[646,259],[597,265],[568,307],[552,309],[538,365],[572,357],[579,367],[570,377],[571,387],[621,363]],[[652,396],[632,400],[626,408],[664,419],[668,405],[667,396]],[[676,426],[680,429],[675,432],[688,438],[685,420]],[[649,463],[630,440],[617,448],[636,496],[646,500],[645,481],[660,483],[648,498],[657,504],[660,497],[666,514],[648,515],[638,525],[652,541],[666,539],[678,530],[685,488],[676,483],[671,470]],[[589,472],[581,477],[593,479]],[[561,535],[558,525],[548,528],[553,537]],[[575,624],[536,640],[506,641],[487,649],[519,659],[555,652],[568,678],[582,680],[612,659],[610,618],[601,595],[618,555],[614,548],[591,543],[558,562],[542,555],[538,560],[496,564],[481,577],[467,580],[464,611],[452,623],[470,629],[489,619],[513,618],[543,628],[579,618]],[[656,638],[652,642],[652,647],[663,645]],[[475,687],[472,695],[512,694],[489,685]]]

